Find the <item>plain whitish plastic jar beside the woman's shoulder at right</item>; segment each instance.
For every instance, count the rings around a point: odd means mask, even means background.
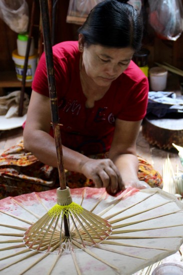
[[[149,69],[149,80],[151,91],[164,91],[167,82],[167,70],[161,67]]]

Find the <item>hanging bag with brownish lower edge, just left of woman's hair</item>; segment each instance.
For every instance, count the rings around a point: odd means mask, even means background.
[[[66,22],[82,25],[90,10],[103,0],[70,0]]]

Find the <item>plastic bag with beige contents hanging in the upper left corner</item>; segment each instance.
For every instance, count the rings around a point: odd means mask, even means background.
[[[16,33],[28,28],[28,5],[25,0],[0,0],[0,18]]]

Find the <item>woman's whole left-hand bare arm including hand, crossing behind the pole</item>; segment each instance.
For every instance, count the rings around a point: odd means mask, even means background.
[[[57,167],[54,138],[49,135],[51,123],[50,100],[32,91],[25,128],[24,147],[39,161]],[[64,168],[82,173],[92,179],[95,187],[108,187],[111,193],[124,188],[118,169],[110,159],[90,159],[62,145]]]

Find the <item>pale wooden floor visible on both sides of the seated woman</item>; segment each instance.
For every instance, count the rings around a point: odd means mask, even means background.
[[[0,154],[8,149],[10,146],[15,145],[19,140],[22,139],[22,128],[16,128],[7,131],[0,131]],[[169,155],[173,170],[176,171],[176,166],[181,167],[181,163],[178,157],[178,152],[172,150],[161,150],[155,146],[149,145],[139,131],[137,139],[137,154],[145,158],[155,170],[162,175],[162,166]]]

